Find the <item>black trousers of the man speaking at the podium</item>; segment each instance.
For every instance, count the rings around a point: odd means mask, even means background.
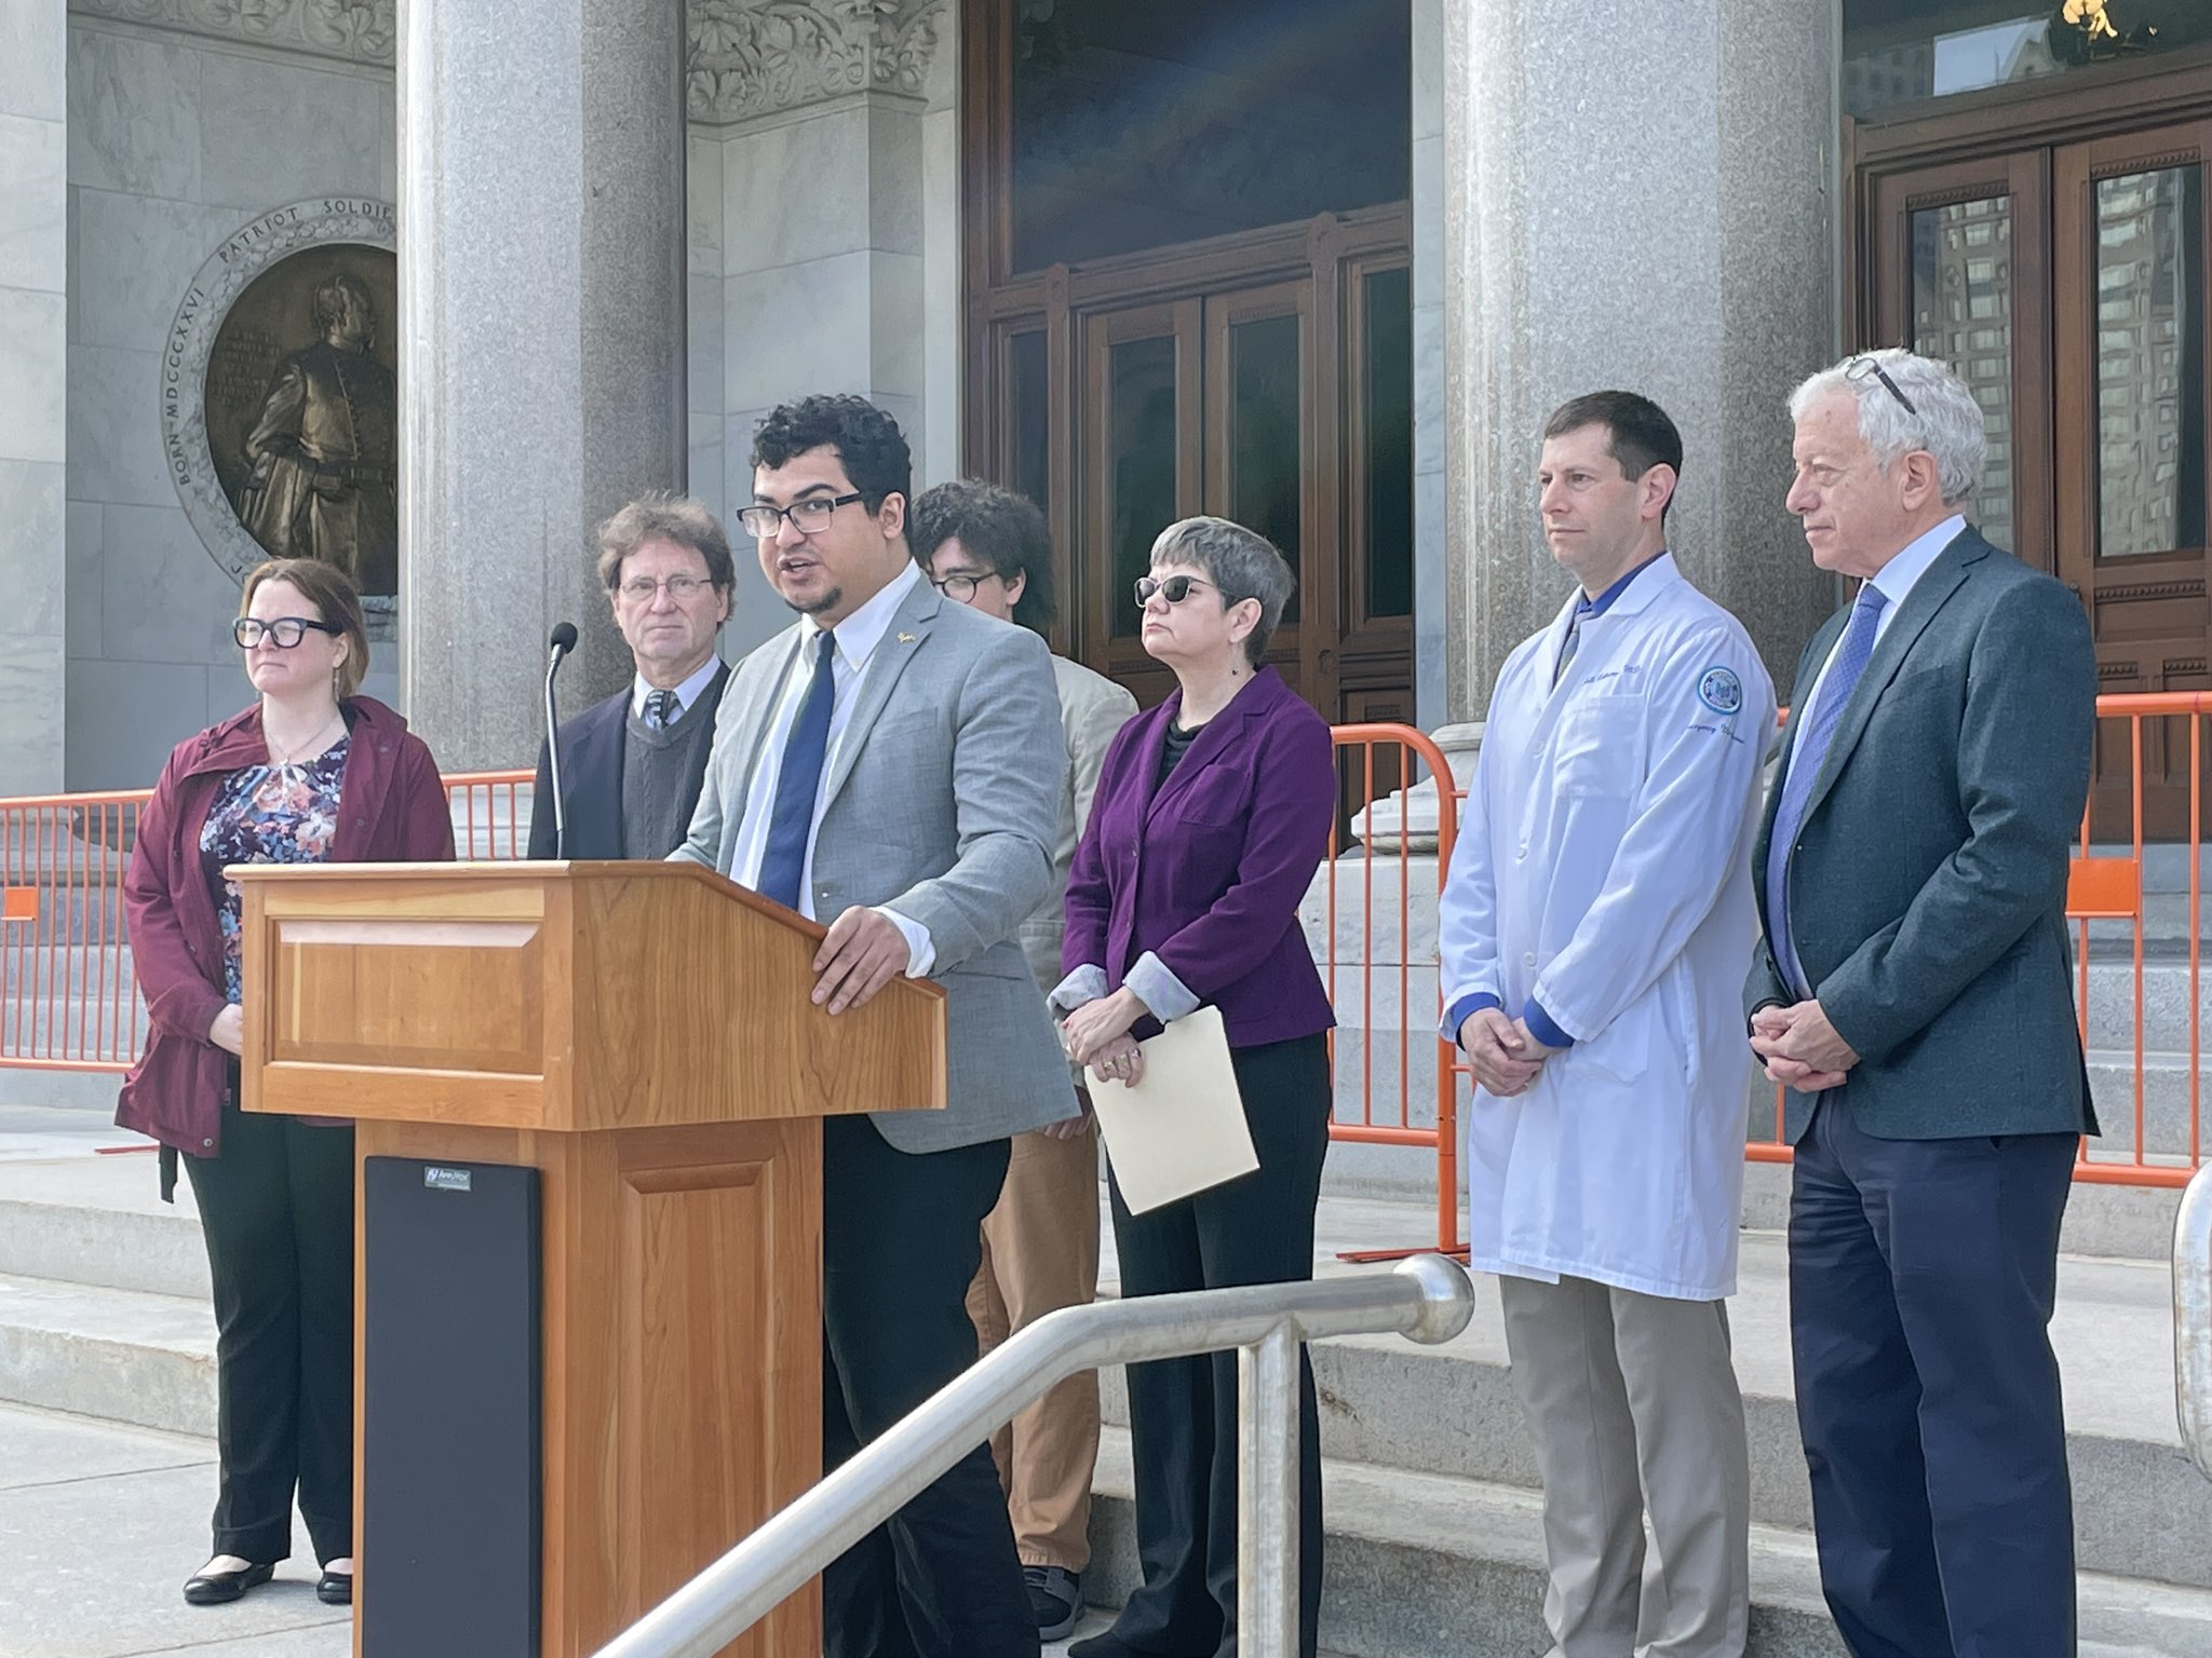
[[[823,1472],[975,1362],[967,1287],[1006,1141],[894,1150],[823,1121]],[[827,1658],[1037,1658],[1006,1494],[980,1444],[823,1572]]]

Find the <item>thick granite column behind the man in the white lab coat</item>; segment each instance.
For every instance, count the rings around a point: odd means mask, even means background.
[[[1670,544],[1770,672],[1834,604],[1783,511],[1790,387],[1836,354],[1836,0],[1444,7],[1451,718],[1568,592],[1537,531],[1544,418],[1657,398]]]

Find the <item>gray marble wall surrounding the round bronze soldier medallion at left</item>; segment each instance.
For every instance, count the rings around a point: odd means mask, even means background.
[[[230,643],[237,584],[161,458],[177,303],[268,208],[392,199],[392,73],[71,15],[66,86],[66,778],[135,789],[252,694]],[[378,646],[367,690],[394,699],[394,668]]]

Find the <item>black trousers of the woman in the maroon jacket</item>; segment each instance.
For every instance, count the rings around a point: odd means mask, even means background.
[[[215,1280],[215,1554],[354,1552],[354,1130],[223,1101],[221,1154],[184,1158]]]

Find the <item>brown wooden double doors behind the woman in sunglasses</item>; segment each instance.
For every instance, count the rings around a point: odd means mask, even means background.
[[[1413,345],[1402,206],[1323,214],[978,296],[971,460],[1046,508],[1055,648],[1146,705],[1137,577],[1168,524],[1274,542],[1267,661],[1332,721],[1413,718]]]

